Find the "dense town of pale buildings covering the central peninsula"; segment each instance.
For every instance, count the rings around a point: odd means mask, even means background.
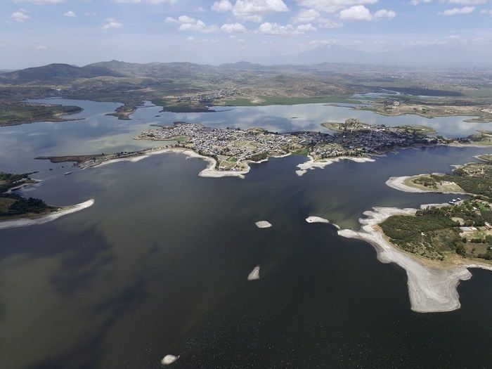
[[[310,131],[273,134],[263,129],[211,128],[201,124],[176,123],[145,131],[138,138],[175,139],[177,142],[174,146],[193,148],[201,155],[214,157],[219,169],[228,170],[244,169],[247,160],[258,161],[302,149],[309,150],[315,160],[323,160],[339,156],[367,156],[397,147],[439,143],[438,138],[384,126],[332,135]]]

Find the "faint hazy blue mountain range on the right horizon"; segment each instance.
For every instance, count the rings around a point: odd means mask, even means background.
[[[282,58],[283,63],[313,65],[353,63],[399,67],[490,67],[491,51],[468,51],[452,46],[415,46],[400,51],[352,50],[337,45],[320,46]]]

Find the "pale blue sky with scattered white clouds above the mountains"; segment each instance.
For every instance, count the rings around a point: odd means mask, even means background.
[[[492,50],[492,0],[0,0],[0,69],[281,62],[325,45]]]

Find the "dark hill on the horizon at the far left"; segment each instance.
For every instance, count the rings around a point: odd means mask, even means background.
[[[77,67],[68,64],[48,64],[43,67],[32,67],[15,70],[0,75],[1,82],[27,84],[32,82],[63,83],[77,78],[93,78],[101,76],[122,77],[122,74],[102,67]]]

